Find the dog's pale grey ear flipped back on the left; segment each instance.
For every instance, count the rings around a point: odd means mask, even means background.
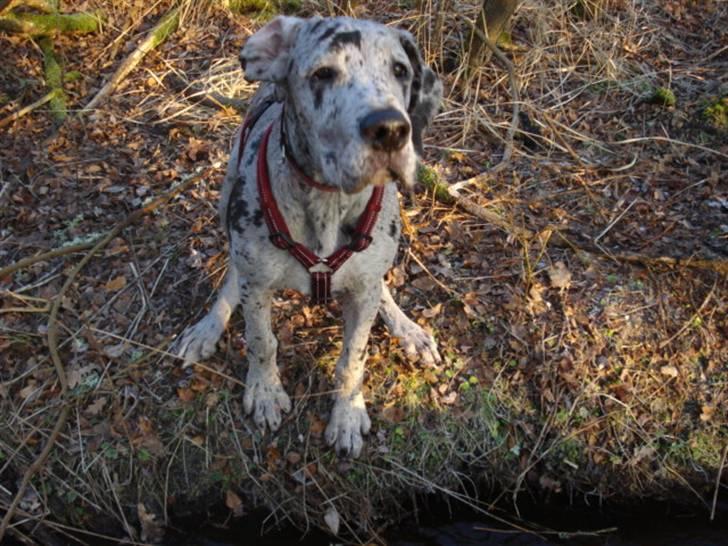
[[[288,73],[291,45],[303,19],[281,15],[253,34],[240,50],[248,81],[280,82]]]

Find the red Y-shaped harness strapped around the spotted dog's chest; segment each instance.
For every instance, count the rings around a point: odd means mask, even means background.
[[[257,118],[247,121],[243,124],[241,140],[247,138],[247,133],[252,125],[257,121]],[[372,242],[372,229],[374,224],[377,223],[377,217],[379,211],[382,208],[382,197],[384,195],[384,186],[374,186],[372,195],[369,198],[364,212],[359,217],[359,221],[356,224],[352,234],[351,242],[348,245],[344,245],[332,254],[325,258],[321,258],[315,254],[307,246],[294,241],[291,238],[291,232],[288,230],[286,221],[278,209],[273,191],[270,187],[270,177],[268,175],[268,162],[266,161],[268,151],[268,140],[273,129],[273,124],[268,127],[263,140],[260,143],[258,149],[258,193],[260,195],[260,206],[263,211],[263,217],[265,223],[268,225],[268,231],[270,232],[271,242],[281,250],[287,250],[291,256],[293,256],[298,262],[305,267],[311,275],[311,303],[313,305],[326,304],[332,299],[331,297],[331,277],[336,271],[344,265],[344,262],[351,257],[354,252],[361,252],[365,250]],[[242,157],[242,143],[241,143]],[[300,169],[297,169],[300,171]],[[298,173],[297,173],[298,174]],[[301,173],[303,174],[303,173]],[[307,182],[310,180],[308,177],[302,177]],[[315,183],[314,187],[319,187],[318,182]],[[328,188],[328,186],[326,186]]]

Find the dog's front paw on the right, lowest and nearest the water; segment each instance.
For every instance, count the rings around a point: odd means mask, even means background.
[[[358,457],[364,445],[362,435],[368,433],[371,426],[361,393],[353,398],[339,398],[326,427],[326,442],[336,444],[337,453]]]

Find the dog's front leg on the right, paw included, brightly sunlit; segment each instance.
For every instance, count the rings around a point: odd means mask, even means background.
[[[344,346],[336,364],[336,397],[326,427],[326,441],[336,444],[336,451],[358,457],[364,444],[362,435],[369,432],[361,392],[364,364],[367,359],[369,331],[379,307],[381,285],[373,284],[343,298]]]

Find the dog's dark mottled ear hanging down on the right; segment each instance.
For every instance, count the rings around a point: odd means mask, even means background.
[[[407,53],[414,70],[407,113],[412,124],[412,143],[417,153],[422,155],[422,133],[432,123],[432,119],[440,109],[442,82],[422,60],[422,54],[412,34],[405,30],[399,30],[398,33],[399,42]]]

